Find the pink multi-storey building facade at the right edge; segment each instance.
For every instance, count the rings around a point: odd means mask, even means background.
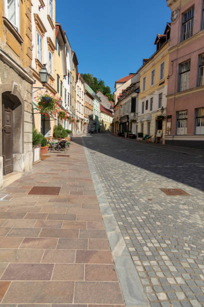
[[[166,0],[171,39],[166,144],[204,148],[204,0]]]

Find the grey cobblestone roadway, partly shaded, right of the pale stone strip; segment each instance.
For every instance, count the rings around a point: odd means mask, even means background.
[[[83,140],[151,306],[204,305],[203,156],[110,134]]]

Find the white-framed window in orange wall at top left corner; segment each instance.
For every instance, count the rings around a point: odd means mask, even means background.
[[[5,17],[19,31],[19,2],[18,0],[5,0]]]

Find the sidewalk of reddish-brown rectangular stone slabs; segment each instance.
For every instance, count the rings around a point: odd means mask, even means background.
[[[81,139],[75,139],[70,157],[48,153],[0,191],[0,306],[124,305]],[[60,192],[29,195],[33,186]]]

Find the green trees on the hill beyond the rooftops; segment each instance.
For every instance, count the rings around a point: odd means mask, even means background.
[[[92,90],[96,93],[96,91],[100,91],[103,95],[107,96],[109,101],[113,100],[113,95],[109,86],[105,86],[105,83],[101,79],[97,79],[91,74],[81,74],[84,81],[92,88]]]

